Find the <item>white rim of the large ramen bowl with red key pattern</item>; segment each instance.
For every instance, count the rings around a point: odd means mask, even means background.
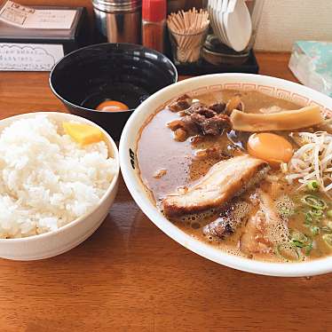
[[[150,220],[181,245],[194,253],[206,257],[220,265],[249,273],[271,276],[299,277],[332,272],[332,256],[301,263],[273,263],[228,254],[208,243],[198,241],[173,225],[155,207],[150,193],[142,184],[136,156],[141,128],[156,110],[168,105],[170,100],[183,94],[198,96],[209,91],[233,89],[241,91],[260,91],[267,95],[287,99],[296,104],[318,105],[321,111],[332,115],[332,99],[303,85],[265,75],[217,74],[204,75],[170,85],[146,99],[135,112],[123,130],[120,142],[120,164],[124,181],[135,202]]]

